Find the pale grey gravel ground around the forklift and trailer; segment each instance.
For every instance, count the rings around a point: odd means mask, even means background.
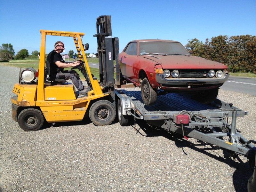
[[[19,68],[0,66],[0,71],[2,191],[247,190],[252,172],[246,160],[233,161],[218,147],[143,122],[97,127],[88,119],[24,132],[11,117]],[[256,139],[255,96],[220,90],[219,98],[250,112],[236,125]]]

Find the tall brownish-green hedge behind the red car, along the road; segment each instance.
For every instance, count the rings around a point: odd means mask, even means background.
[[[256,74],[256,36],[220,35],[207,38],[204,43],[194,38],[185,47],[193,56],[227,65],[230,72]]]

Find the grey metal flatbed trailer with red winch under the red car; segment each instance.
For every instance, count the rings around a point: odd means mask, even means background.
[[[147,106],[142,102],[140,91],[116,90],[115,94],[121,104],[117,106],[121,125],[127,125],[132,116],[183,134],[186,139],[195,138],[227,149],[233,157],[246,156],[254,162],[256,148],[252,143],[255,141],[245,139],[236,129],[236,118],[249,113],[231,103],[217,100],[214,105],[206,105],[184,94],[169,93],[159,96],[153,106]],[[179,117],[184,115],[189,119],[186,124],[179,122]],[[232,117],[231,124],[229,117]]]

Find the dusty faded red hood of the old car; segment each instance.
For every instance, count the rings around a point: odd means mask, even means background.
[[[226,65],[196,56],[141,55],[162,65],[163,69],[224,69]]]

